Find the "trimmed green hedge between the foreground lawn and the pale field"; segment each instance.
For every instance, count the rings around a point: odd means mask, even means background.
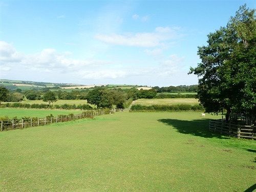
[[[195,104],[173,104],[173,105],[160,105],[154,104],[150,106],[135,104],[131,107],[132,112],[157,112],[157,111],[204,111],[202,105]]]

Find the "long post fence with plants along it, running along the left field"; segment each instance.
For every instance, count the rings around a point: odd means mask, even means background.
[[[102,111],[85,111],[81,114],[75,115],[59,115],[57,117],[45,117],[45,118],[26,118],[26,119],[12,119],[1,121],[1,131],[23,129],[25,127],[41,126],[51,123],[66,122],[76,119],[93,118],[94,116],[105,115],[113,113],[110,110]]]

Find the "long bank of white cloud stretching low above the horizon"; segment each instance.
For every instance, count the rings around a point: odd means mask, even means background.
[[[140,61],[136,66],[122,66],[120,60],[109,61],[96,59],[74,59],[71,52],[58,52],[55,49],[44,49],[36,54],[18,54],[16,49],[7,42],[1,42],[1,70],[5,78],[20,78],[27,80],[45,80],[56,82],[80,83],[136,83],[136,84],[172,84],[169,82],[177,74],[183,73],[184,58],[170,55],[163,58],[161,48],[146,49],[151,55],[161,55],[150,63],[141,67]],[[6,48],[6,49],[4,49]],[[15,57],[19,55],[19,57]],[[19,58],[19,59],[13,59]],[[10,62],[11,61],[11,62]],[[24,72],[24,73],[20,73]],[[54,80],[55,79],[55,80]],[[121,79],[125,79],[123,82]],[[178,82],[178,80],[177,80]],[[160,84],[158,84],[160,86]]]

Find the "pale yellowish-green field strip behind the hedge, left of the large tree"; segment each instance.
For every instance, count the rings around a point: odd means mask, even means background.
[[[153,104],[199,104],[197,99],[194,98],[168,98],[168,99],[137,99],[132,102],[133,104],[153,105]]]

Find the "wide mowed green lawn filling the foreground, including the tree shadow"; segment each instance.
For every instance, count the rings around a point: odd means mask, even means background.
[[[0,132],[4,191],[244,191],[255,141],[200,113],[128,113]]]

